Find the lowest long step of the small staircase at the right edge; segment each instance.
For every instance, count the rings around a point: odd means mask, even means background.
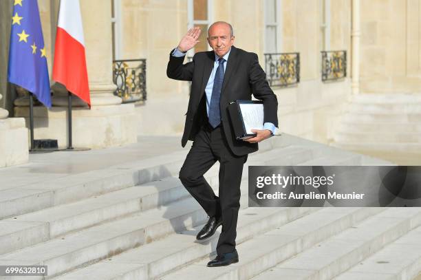
[[[395,133],[394,131],[348,131],[338,130],[336,142],[383,142],[383,143],[421,143],[421,132]]]

